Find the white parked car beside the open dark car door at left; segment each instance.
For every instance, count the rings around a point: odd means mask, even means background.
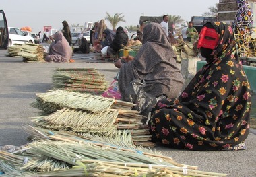
[[[25,43],[34,43],[34,38],[29,35],[26,35],[22,30],[15,27],[8,27],[9,31],[9,40],[8,47],[13,46],[13,44],[25,44]]]

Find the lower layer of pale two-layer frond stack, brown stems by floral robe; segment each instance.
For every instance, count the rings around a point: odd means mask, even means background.
[[[129,141],[134,145],[154,147],[154,143],[149,142],[151,139],[149,129],[142,124],[143,116],[136,110],[106,110],[94,113],[63,108],[49,116],[31,119],[38,127],[83,133],[84,137],[90,133],[115,138],[120,134],[119,131],[123,133],[125,130],[130,134]]]

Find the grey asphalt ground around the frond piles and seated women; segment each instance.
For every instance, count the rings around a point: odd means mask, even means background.
[[[22,58],[5,57],[0,50],[0,146],[24,145],[28,134],[24,125],[32,124],[29,117],[40,112],[32,108],[36,93],[52,88],[51,76],[57,68],[94,67],[112,81],[118,69],[113,63],[99,61],[90,55],[75,55],[75,63],[23,63]],[[255,101],[255,100],[254,100]],[[245,151],[188,151],[156,147],[176,162],[198,166],[207,172],[227,173],[228,176],[256,176],[256,131],[251,129]]]

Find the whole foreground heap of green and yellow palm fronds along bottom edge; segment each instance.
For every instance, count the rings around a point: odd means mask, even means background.
[[[226,176],[178,164],[170,157],[92,143],[35,141],[23,151],[0,151],[6,176]],[[3,176],[5,176],[3,174]]]

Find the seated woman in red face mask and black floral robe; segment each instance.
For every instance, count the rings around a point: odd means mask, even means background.
[[[197,48],[207,64],[179,98],[160,100],[153,108],[152,141],[195,151],[243,149],[251,93],[231,26],[208,22]]]

